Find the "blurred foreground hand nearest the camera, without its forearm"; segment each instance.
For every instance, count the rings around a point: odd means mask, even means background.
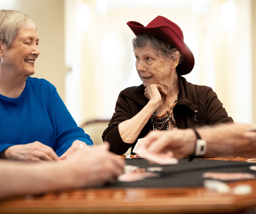
[[[75,176],[73,184],[77,187],[99,187],[116,181],[124,173],[125,161],[108,149],[106,142],[95,147],[79,146],[75,155],[63,162]]]

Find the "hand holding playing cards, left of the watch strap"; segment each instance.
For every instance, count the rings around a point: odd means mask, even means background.
[[[166,153],[177,159],[192,155],[196,142],[193,130],[151,131],[142,146],[153,153]]]

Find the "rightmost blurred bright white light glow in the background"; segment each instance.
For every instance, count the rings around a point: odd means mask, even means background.
[[[221,5],[221,26],[225,30],[232,30],[236,26],[236,6],[232,0]]]

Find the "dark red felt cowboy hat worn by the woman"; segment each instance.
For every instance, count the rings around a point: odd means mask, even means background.
[[[178,75],[185,75],[192,71],[195,59],[184,42],[184,37],[178,25],[163,16],[157,16],[146,27],[136,21],[128,21],[127,25],[133,33],[138,36],[141,33],[149,33],[166,42],[169,42],[174,48],[183,54],[183,60],[177,65]]]

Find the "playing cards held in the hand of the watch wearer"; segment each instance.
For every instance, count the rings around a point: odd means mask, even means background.
[[[164,154],[164,153],[159,154],[159,153],[149,152],[141,144],[143,142],[143,140],[145,140],[145,139],[146,138],[138,139],[138,142],[136,143],[136,145],[133,149],[134,153],[140,154],[143,156],[143,158],[145,158],[151,162],[158,163],[160,165],[169,165],[169,164],[177,164],[178,163],[178,159],[170,157],[167,154]]]

